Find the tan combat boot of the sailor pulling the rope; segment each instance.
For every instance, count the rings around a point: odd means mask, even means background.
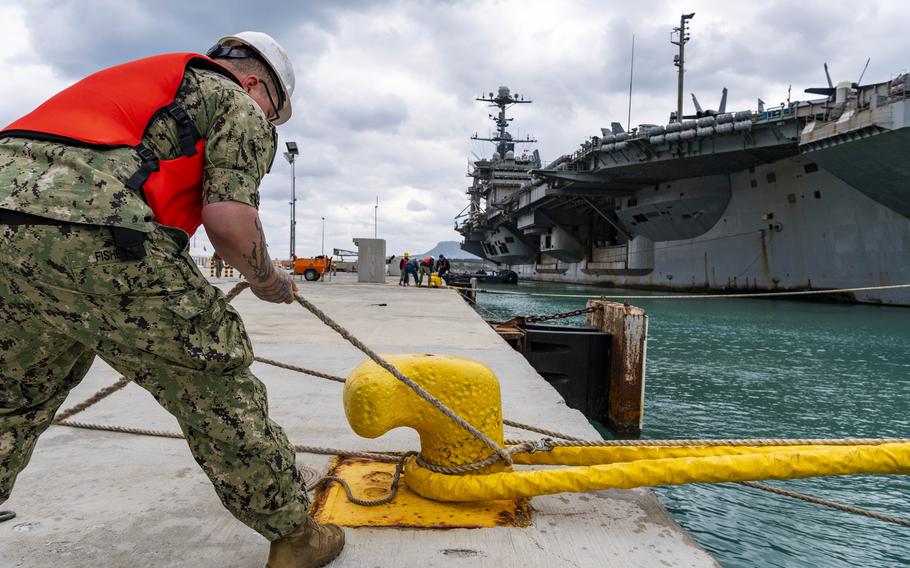
[[[307,515],[291,534],[272,541],[266,568],[319,568],[331,562],[344,548],[344,531],[321,525]]]

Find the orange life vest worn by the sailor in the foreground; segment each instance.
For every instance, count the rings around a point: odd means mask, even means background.
[[[155,221],[192,235],[202,224],[205,139],[174,103],[188,67],[210,69],[236,81],[227,69],[196,53],[147,57],[89,75],[4,128],[0,137],[99,150],[133,148],[142,163],[124,185],[142,192]],[[159,160],[142,144],[146,129],[162,113],[177,122],[180,133],[182,156],[171,160]]]

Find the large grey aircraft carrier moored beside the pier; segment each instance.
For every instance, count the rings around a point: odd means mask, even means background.
[[[522,278],[678,291],[791,291],[910,283],[910,75],[807,89],[757,110],[683,115],[684,15],[675,28],[677,110],[665,125],[601,128],[543,165],[516,154],[508,87],[477,98],[496,150],[473,162],[462,248]],[[827,74],[827,65],[825,66]],[[861,80],[861,78],[860,78]],[[910,306],[910,289],[830,299]]]

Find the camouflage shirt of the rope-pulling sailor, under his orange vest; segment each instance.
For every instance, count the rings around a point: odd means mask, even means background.
[[[275,127],[233,81],[188,69],[175,102],[205,144],[203,204],[239,201],[259,207],[259,182],[275,157]],[[161,160],[181,156],[177,123],[160,115],[142,143]],[[131,148],[96,150],[25,138],[0,138],[0,209],[89,225],[149,232],[152,211],[124,183],[139,168]]]

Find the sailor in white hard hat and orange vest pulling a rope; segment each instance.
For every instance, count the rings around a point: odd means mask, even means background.
[[[341,551],[307,515],[240,316],[187,247],[204,225],[258,298],[293,301],[257,211],[293,91],[285,50],[242,32],[95,73],[0,132],[0,504],[97,355],[174,415],[269,566]]]

